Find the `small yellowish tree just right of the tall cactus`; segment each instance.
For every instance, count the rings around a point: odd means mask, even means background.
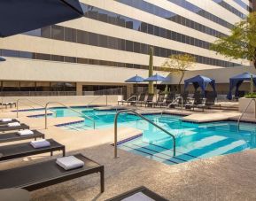
[[[189,54],[171,55],[161,68],[168,73],[178,73],[181,75],[178,90],[181,92],[181,83],[186,71],[193,66],[196,58]]]

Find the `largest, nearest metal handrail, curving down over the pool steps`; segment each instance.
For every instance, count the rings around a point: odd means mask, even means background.
[[[123,110],[120,112],[117,112],[114,118],[114,158],[118,158],[117,156],[117,120],[118,117],[120,115],[120,113],[125,113],[125,112],[132,112],[134,114],[136,114],[136,116],[140,117],[143,120],[146,120],[147,122],[151,123],[151,125],[153,125],[156,128],[159,128],[160,130],[164,131],[167,135],[170,135],[173,138],[174,141],[174,157],[176,155],[176,139],[175,139],[175,135],[172,135],[170,132],[168,132],[166,129],[161,128],[159,125],[155,124],[153,121],[145,118],[143,115],[141,115],[140,113],[136,112],[135,110]]]

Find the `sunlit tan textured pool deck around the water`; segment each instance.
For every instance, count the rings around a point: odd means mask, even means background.
[[[180,110],[168,112],[185,113]],[[65,117],[49,118],[48,129],[44,129],[43,119],[27,118],[27,115],[37,113],[40,112],[20,112],[19,120],[27,123],[31,128],[39,129],[45,133],[46,138],[54,138],[59,143],[65,144],[67,155],[81,152],[103,164],[105,166],[105,193],[100,194],[99,175],[95,174],[35,190],[31,192],[32,200],[101,201],[141,185],[169,200],[256,200],[256,150],[198,159],[175,166],[168,166],[121,150],[119,150],[119,158],[115,159],[113,147],[110,145],[113,141],[112,128],[68,131],[54,126],[81,120],[77,117]],[[236,120],[239,115],[239,112],[219,110],[192,113],[186,112],[186,114],[194,115],[194,118],[198,120],[206,120],[206,116],[208,119],[213,116],[221,118],[221,115],[222,118],[229,116],[229,119]],[[15,115],[15,112],[4,110],[0,118],[15,118]],[[255,120],[253,115],[245,115],[245,119]],[[140,133],[140,130],[135,128],[119,128],[119,131],[119,139]],[[59,156],[60,153],[52,158]],[[27,165],[49,158],[49,155],[42,154],[15,159],[1,163],[0,169]]]

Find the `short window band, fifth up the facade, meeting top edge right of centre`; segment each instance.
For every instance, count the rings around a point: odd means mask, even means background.
[[[180,5],[182,8],[185,8],[185,9],[189,10],[190,12],[194,12],[194,13],[196,13],[206,19],[209,19],[215,23],[218,23],[219,25],[221,25],[223,27],[227,27],[230,29],[234,27],[228,21],[221,19],[221,18],[217,17],[216,15],[213,15],[210,12],[206,12],[204,9],[199,8],[195,4],[191,4],[187,0],[168,0],[168,1],[171,3],[177,4],[177,5]],[[237,0],[237,1],[239,1],[239,0]]]

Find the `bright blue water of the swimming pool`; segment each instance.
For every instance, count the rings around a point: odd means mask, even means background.
[[[65,109],[55,111],[58,116],[76,115]],[[96,120],[96,128],[113,127],[115,111],[100,112],[84,108],[80,108],[80,111]],[[180,116],[146,115],[146,117],[175,135],[176,156],[173,157],[173,141],[169,135],[132,114],[120,114],[119,127],[141,129],[143,136],[127,143],[121,143],[120,149],[173,165],[256,147],[255,124],[241,123],[238,131],[237,122],[233,121],[195,124],[183,122]],[[89,120],[85,120],[85,122],[67,125],[63,128],[68,130],[91,129],[90,123]]]

